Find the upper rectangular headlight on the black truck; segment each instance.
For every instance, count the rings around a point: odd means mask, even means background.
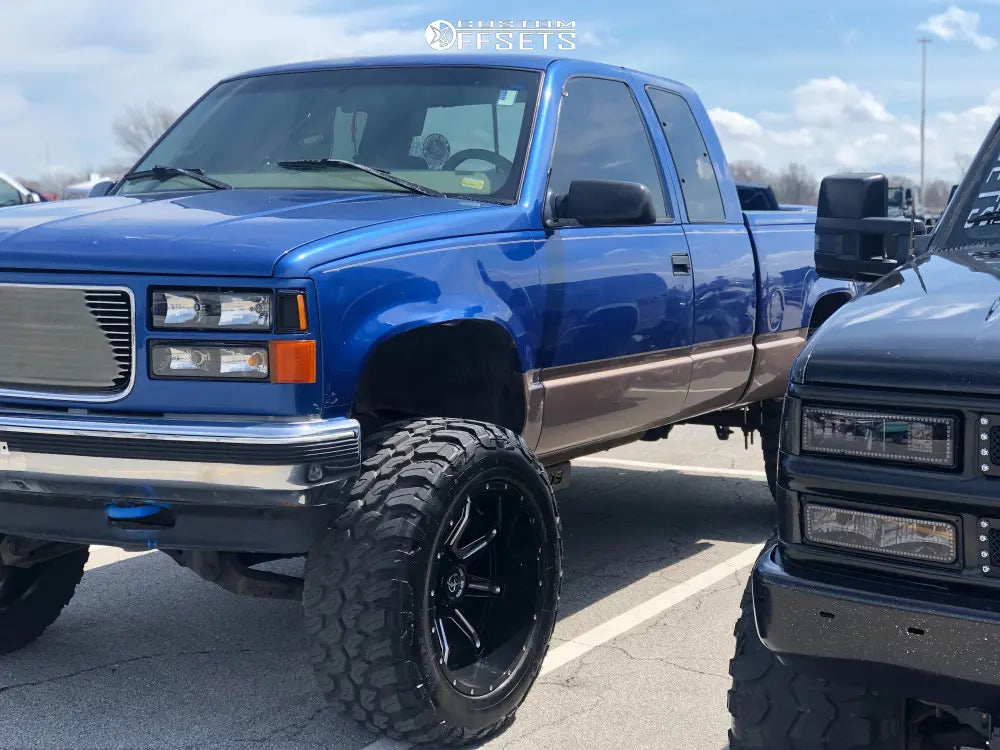
[[[802,450],[954,467],[955,425],[953,417],[806,406]]]

